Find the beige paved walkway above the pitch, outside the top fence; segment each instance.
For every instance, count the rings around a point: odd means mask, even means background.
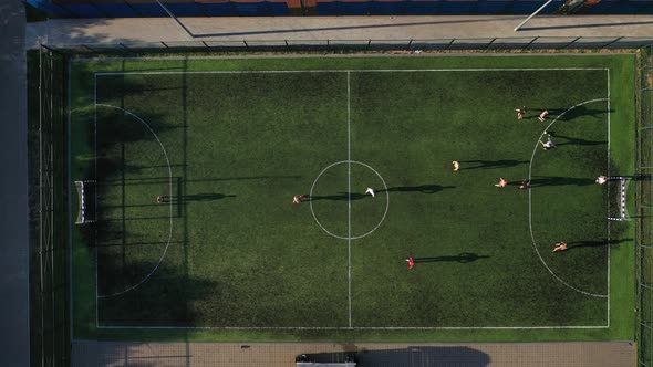
[[[25,44],[255,40],[433,40],[533,36],[653,39],[653,15],[522,15],[54,19],[30,23]]]

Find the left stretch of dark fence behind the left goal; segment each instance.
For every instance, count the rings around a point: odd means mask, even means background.
[[[30,67],[30,349],[32,366],[70,365],[65,57]],[[38,91],[38,92],[37,92]],[[33,106],[32,106],[33,104]],[[38,108],[37,108],[38,105]]]

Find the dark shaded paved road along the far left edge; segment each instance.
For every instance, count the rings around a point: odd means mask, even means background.
[[[0,1],[0,356],[29,366],[28,147],[24,10]]]

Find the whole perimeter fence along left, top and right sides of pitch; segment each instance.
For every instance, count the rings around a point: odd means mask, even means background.
[[[70,253],[66,156],[66,60],[87,56],[147,56],[210,52],[419,51],[579,52],[638,51],[636,80],[636,342],[639,365],[653,367],[653,36],[651,38],[509,38],[447,40],[281,40],[187,41],[155,43],[42,45],[39,76],[39,119],[35,139],[38,188],[32,190],[31,335],[32,365],[70,365]],[[34,144],[32,144],[34,146]],[[68,184],[66,184],[68,182]],[[56,195],[55,195],[56,193]]]

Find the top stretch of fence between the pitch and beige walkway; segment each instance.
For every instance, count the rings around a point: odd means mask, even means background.
[[[157,52],[221,52],[221,51],[569,51],[640,49],[653,43],[650,38],[633,36],[527,36],[487,39],[429,39],[429,40],[242,40],[215,41],[209,34],[196,34],[194,41],[158,41],[116,43],[49,44],[51,49],[79,54],[137,54]],[[207,40],[198,40],[206,36]]]

